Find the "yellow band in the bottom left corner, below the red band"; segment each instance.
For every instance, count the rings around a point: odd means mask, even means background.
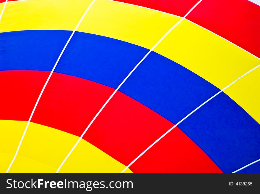
[[[0,142],[1,172],[6,172],[12,161],[26,124],[27,121],[0,121],[3,134]],[[51,127],[30,123],[9,173],[55,173],[78,138]],[[123,164],[85,140],[81,140],[75,151],[60,172],[117,173],[125,168]],[[80,158],[77,158],[79,156]]]

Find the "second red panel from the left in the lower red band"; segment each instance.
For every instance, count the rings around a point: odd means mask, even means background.
[[[92,81],[53,73],[32,122],[81,136],[113,91]]]

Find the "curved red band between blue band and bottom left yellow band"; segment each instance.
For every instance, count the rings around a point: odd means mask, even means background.
[[[0,95],[0,102],[3,111],[0,111],[0,119],[27,121],[49,73],[1,71],[0,82],[3,84],[0,89],[3,95]],[[53,73],[32,122],[80,136],[113,91],[92,81]],[[128,165],[172,126],[170,121],[151,109],[117,92],[83,139]],[[152,163],[149,157],[154,157],[152,159],[156,162]],[[176,165],[183,161],[186,165],[176,170]],[[139,158],[131,170],[149,173],[220,172],[178,128]]]

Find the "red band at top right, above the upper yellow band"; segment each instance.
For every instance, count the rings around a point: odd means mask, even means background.
[[[196,0],[118,0],[121,2],[185,15]],[[241,9],[243,8],[243,9]],[[260,57],[260,6],[247,0],[203,0],[186,19],[228,39],[234,44]],[[243,38],[241,38],[243,37]]]

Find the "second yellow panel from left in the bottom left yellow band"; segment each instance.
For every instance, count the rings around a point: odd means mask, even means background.
[[[55,173],[77,140],[69,133],[30,123],[9,172]]]

